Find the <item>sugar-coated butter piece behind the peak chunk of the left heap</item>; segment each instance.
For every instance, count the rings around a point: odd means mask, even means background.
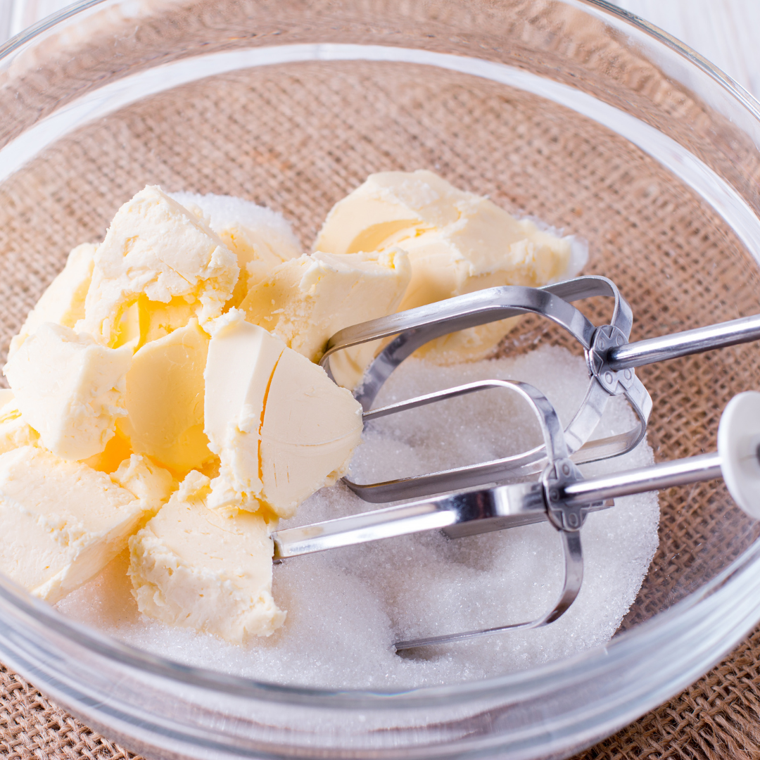
[[[239,306],[277,264],[302,254],[290,223],[276,211],[231,195],[179,192],[171,197],[205,220],[237,256],[240,276],[228,306]]]

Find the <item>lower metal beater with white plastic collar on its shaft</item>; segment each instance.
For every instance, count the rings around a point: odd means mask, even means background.
[[[426,530],[443,530],[448,537],[458,538],[549,521],[559,531],[564,555],[564,580],[559,598],[551,610],[530,622],[397,641],[394,649],[401,651],[508,630],[540,628],[558,619],[581,590],[581,527],[591,511],[613,506],[613,499],[618,496],[722,476],[734,501],[752,518],[760,518],[760,393],[748,391],[729,402],[720,419],[718,451],[713,454],[584,480],[578,467],[568,457],[565,434],[556,411],[546,397],[527,383],[499,383],[503,388],[520,394],[539,420],[548,461],[539,480],[439,496],[362,515],[278,530],[272,534],[274,561],[282,562],[293,556]]]

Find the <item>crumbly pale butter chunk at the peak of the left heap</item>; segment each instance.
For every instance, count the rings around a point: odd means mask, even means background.
[[[236,257],[191,211],[148,185],[127,201],[98,246],[79,329],[106,345],[141,294],[181,297],[200,321],[221,314],[238,278]]]

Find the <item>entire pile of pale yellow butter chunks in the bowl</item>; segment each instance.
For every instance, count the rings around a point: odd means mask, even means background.
[[[362,432],[359,404],[315,364],[331,335],[485,287],[543,285],[581,258],[572,239],[427,171],[370,176],[312,255],[249,201],[147,186],[100,245],[71,252],[14,338],[0,572],[55,601],[128,543],[145,615],[236,643],[271,635],[285,613],[270,524],[335,483]],[[477,358],[509,324],[423,351]],[[335,376],[356,385],[381,345],[335,356]]]

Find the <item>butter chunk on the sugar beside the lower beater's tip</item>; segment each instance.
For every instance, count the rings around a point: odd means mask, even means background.
[[[260,515],[206,508],[209,480],[179,492],[129,541],[132,594],[144,615],[239,644],[268,636],[285,614],[272,598],[274,544]]]

